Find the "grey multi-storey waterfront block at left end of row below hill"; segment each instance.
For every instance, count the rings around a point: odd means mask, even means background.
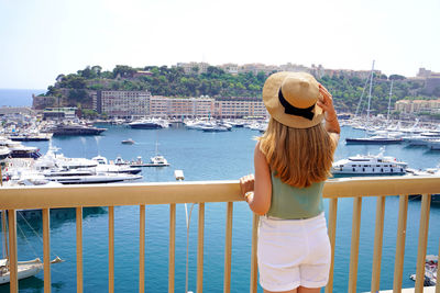
[[[98,91],[96,110],[111,117],[136,117],[150,114],[148,91]]]

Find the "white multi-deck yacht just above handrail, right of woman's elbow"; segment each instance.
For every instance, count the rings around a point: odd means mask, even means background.
[[[333,176],[389,176],[405,174],[407,164],[394,157],[378,155],[356,155],[333,162]]]

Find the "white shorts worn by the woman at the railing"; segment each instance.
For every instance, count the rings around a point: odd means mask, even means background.
[[[268,291],[327,285],[331,247],[323,213],[306,219],[260,217],[260,284]]]

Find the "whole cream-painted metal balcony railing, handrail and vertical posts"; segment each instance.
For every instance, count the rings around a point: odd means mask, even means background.
[[[400,292],[403,282],[406,223],[408,196],[421,194],[420,227],[418,237],[417,272],[415,291],[422,292],[425,275],[425,257],[427,252],[428,227],[431,194],[440,193],[440,177],[383,177],[329,180],[324,185],[324,198],[329,199],[328,230],[332,247],[330,281],[326,292],[333,290],[334,244],[337,232],[338,200],[353,198],[353,219],[351,235],[350,271],[348,272],[350,293],[356,292],[358,263],[360,246],[360,227],[362,200],[376,196],[376,219],[374,236],[374,255],[371,291],[380,290],[382,244],[384,232],[385,198],[399,196],[396,256],[394,266],[394,292]],[[121,194],[125,194],[121,196]],[[130,194],[130,195],[127,195]],[[114,206],[140,206],[140,251],[139,251],[139,291],[144,292],[145,277],[145,205],[169,204],[169,255],[168,255],[168,292],[175,290],[175,236],[176,204],[198,203],[198,250],[197,250],[197,292],[202,292],[204,281],[204,234],[205,204],[212,202],[227,203],[227,223],[224,239],[224,279],[223,292],[231,291],[231,251],[232,251],[232,211],[233,202],[242,201],[238,181],[204,181],[173,183],[140,183],[117,185],[73,185],[37,188],[0,188],[0,210],[9,214],[9,251],[10,251],[10,291],[18,292],[16,257],[16,218],[15,211],[21,209],[42,209],[43,213],[43,259],[44,292],[51,292],[50,270],[50,209],[76,209],[76,260],[77,292],[82,292],[82,207],[108,206],[109,215],[109,292],[114,292]],[[256,230],[258,217],[253,216],[251,284],[250,292],[257,290]],[[438,224],[435,224],[438,225]],[[437,226],[438,227],[438,226]],[[436,292],[440,292],[437,283]]]

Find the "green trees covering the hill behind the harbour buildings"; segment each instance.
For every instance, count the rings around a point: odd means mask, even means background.
[[[138,75],[138,71],[148,74]],[[267,75],[244,72],[231,75],[221,68],[210,66],[206,74],[198,74],[195,67],[189,74],[183,68],[167,66],[146,66],[132,68],[118,65],[112,71],[102,71],[100,66],[88,66],[77,74],[57,77],[57,82],[47,88],[46,95],[62,97],[66,105],[82,105],[91,108],[91,93],[97,90],[147,90],[153,95],[164,97],[200,97],[235,98],[261,97]],[[435,95],[424,94],[424,83],[410,81],[399,75],[392,75],[394,80],[392,108],[397,100],[403,99],[435,99]],[[328,77],[319,80],[333,94],[334,104],[341,112],[354,113],[365,111],[369,84],[358,77]],[[386,113],[391,82],[386,76],[376,76],[373,81],[371,109],[372,113]],[[363,102],[359,105],[363,93]],[[91,114],[91,113],[89,113]]]

